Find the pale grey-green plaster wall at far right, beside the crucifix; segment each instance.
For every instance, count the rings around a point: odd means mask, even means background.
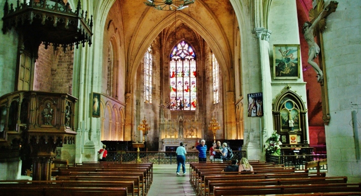
[[[326,3],[327,4],[327,3]],[[323,33],[330,123],[325,126],[328,174],[361,182],[361,162],[356,159],[352,111],[357,112],[361,146],[361,1],[343,0],[327,17]],[[345,145],[348,144],[348,145]],[[360,149],[361,150],[361,149]],[[340,166],[342,165],[342,166]]]

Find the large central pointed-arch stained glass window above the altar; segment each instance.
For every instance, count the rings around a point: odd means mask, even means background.
[[[181,41],[173,48],[170,58],[170,109],[195,110],[197,71],[193,48],[185,41]]]

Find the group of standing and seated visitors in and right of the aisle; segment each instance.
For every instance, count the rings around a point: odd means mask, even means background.
[[[206,141],[203,139],[201,140],[201,143],[197,145],[194,150],[198,151],[198,161],[199,162],[206,162],[207,161],[207,145]],[[183,174],[186,173],[185,171],[185,155],[187,154],[185,148],[183,147],[183,142],[181,142],[181,145],[176,150],[177,153],[177,175],[180,175],[180,169],[182,165],[182,171]],[[227,143],[223,143],[221,147],[221,142],[217,141],[217,143],[213,143],[213,146],[209,149],[209,155],[211,162],[223,162],[227,161],[228,149],[227,149]],[[224,171],[230,172],[230,171],[253,171],[253,167],[248,163],[248,160],[246,158],[241,159],[241,164],[237,164],[238,161],[234,160],[232,161],[231,165],[226,166]]]

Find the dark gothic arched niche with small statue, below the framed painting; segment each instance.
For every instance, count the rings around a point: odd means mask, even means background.
[[[303,100],[293,91],[287,90],[275,100],[273,121],[283,144],[308,144],[306,113]]]

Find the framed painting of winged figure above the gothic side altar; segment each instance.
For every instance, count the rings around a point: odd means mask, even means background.
[[[300,78],[300,45],[273,45],[273,79]]]

